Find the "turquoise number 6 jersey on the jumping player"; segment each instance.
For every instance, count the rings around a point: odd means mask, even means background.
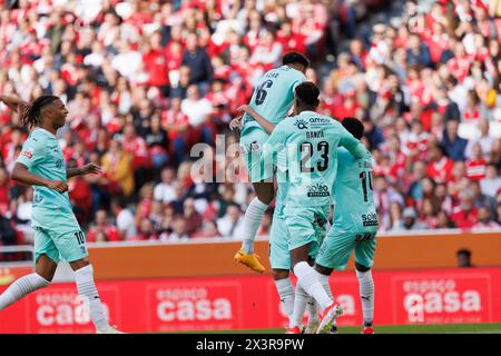
[[[254,88],[249,106],[262,117],[273,123],[282,121],[291,110],[294,101],[294,89],[305,81],[304,75],[288,66],[268,70]],[[242,132],[258,127],[253,117],[244,116]]]

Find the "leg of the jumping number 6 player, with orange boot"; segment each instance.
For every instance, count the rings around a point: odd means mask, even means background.
[[[273,172],[268,172],[261,161],[263,145],[268,139],[266,131],[254,128],[240,138],[240,151],[247,166],[248,177],[256,197],[248,205],[243,222],[242,248],[234,259],[250,269],[263,273],[265,268],[254,254],[254,240],[259,229],[263,215],[274,197]],[[268,176],[268,174],[271,174]]]

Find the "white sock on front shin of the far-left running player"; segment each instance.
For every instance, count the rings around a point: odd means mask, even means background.
[[[89,314],[96,329],[99,332],[110,328],[108,318],[99,298],[99,294],[94,283],[92,265],[79,268],[75,271],[78,294],[89,301]]]

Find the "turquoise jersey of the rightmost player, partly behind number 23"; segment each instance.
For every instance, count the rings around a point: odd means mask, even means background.
[[[337,150],[334,181],[334,226],[337,230],[374,233],[377,215],[372,195],[372,156],[355,159],[346,149]]]

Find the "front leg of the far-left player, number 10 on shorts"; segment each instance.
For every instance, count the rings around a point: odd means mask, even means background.
[[[69,263],[75,271],[75,281],[80,297],[89,304],[89,316],[98,334],[119,333],[108,323],[99,293],[94,281],[94,268],[87,253],[86,236],[80,230],[75,217],[60,216],[58,228],[49,230],[60,256]]]

